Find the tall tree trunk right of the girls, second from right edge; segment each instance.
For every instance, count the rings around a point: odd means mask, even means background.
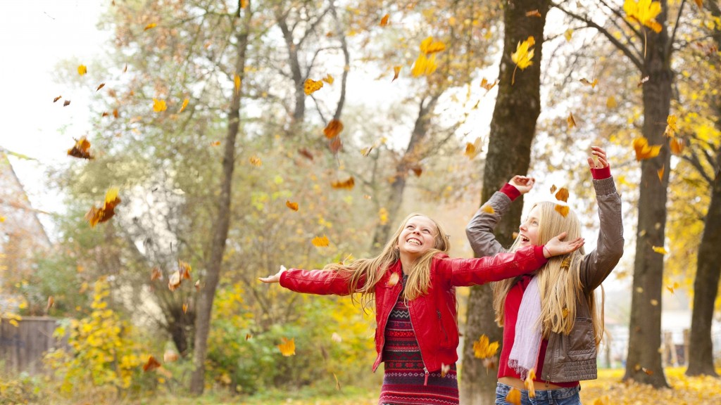
[[[661,7],[663,12],[658,21],[663,25],[667,12],[666,1],[661,1]],[[649,79],[643,84],[642,133],[650,145],[664,146],[658,156],[641,163],[629,352],[624,380],[633,379],[660,388],[668,386],[658,351],[661,347],[663,254],[654,252],[653,246],[664,246],[666,190],[668,172],[671,171],[671,151],[664,128],[671,107],[673,76],[670,68],[671,51],[666,49],[670,39],[665,25],[658,34],[646,30],[646,35],[643,76]],[[659,179],[660,170],[663,170],[663,176]]]

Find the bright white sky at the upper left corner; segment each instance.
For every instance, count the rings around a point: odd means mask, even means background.
[[[77,90],[68,90],[68,86],[53,81],[57,76],[56,66],[66,59],[89,61],[103,52],[102,43],[107,34],[99,32],[96,25],[107,3],[109,1],[2,1],[0,146],[37,159],[9,158],[35,208],[61,210],[58,198],[43,190],[45,168],[73,159],[66,154],[73,146],[73,138],[84,135],[89,128],[87,99]],[[63,98],[53,103],[59,95]],[[64,99],[71,99],[71,104],[63,107]],[[43,216],[40,215],[40,220],[47,227],[50,221]]]

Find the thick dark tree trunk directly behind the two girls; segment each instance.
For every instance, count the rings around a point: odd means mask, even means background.
[[[536,132],[536,120],[541,112],[541,45],[549,1],[504,1],[503,58],[500,62],[500,82],[493,118],[490,142],[483,174],[482,202],[490,198],[504,182],[515,174],[526,174],[531,161],[531,143]],[[528,18],[526,12],[538,9],[540,18]],[[516,71],[515,84],[511,76],[515,63],[510,54],[516,52],[519,41],[533,36],[534,64],[526,70]],[[523,203],[515,203],[497,228],[496,237],[504,246],[510,246],[513,232],[518,231]],[[471,288],[468,301],[463,367],[461,370],[461,403],[485,405],[495,403],[496,370],[486,370],[474,357],[473,342],[485,334],[491,342],[503,341],[503,334],[495,324],[490,286]]]

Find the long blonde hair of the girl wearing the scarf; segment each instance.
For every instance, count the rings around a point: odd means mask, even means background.
[[[559,233],[566,232],[566,240],[578,238],[581,233],[581,224],[572,210],[562,215],[557,210],[556,203],[549,201],[536,203],[531,208],[538,208],[539,228],[538,244],[547,244],[550,239]],[[516,238],[509,251],[515,252],[521,242],[521,236]],[[585,299],[590,310],[591,324],[595,343],[598,345],[603,337],[603,316],[596,311],[596,299],[591,290],[583,292],[580,282],[580,264],[585,256],[583,247],[570,254],[551,257],[547,264],[538,271],[539,290],[541,292],[541,334],[548,339],[550,334],[570,334],[575,323],[576,303]],[[493,285],[493,308],[495,321],[503,326],[504,303],[510,288],[517,279],[507,279],[495,282]]]

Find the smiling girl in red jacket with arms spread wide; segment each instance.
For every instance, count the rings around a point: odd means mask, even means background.
[[[361,294],[361,306],[376,306],[376,362],[385,362],[379,404],[458,404],[456,286],[516,277],[538,269],[547,259],[583,246],[583,239],[480,259],[450,259],[448,236],[425,215],[408,215],[383,252],[371,259],[327,271],[281,267],[262,282],[280,282],[298,293]]]

